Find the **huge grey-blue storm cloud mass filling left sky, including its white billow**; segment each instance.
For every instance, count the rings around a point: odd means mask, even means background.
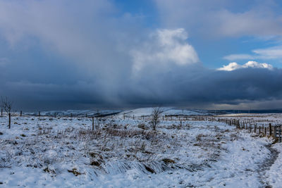
[[[112,1],[0,1],[0,95],[28,110],[282,99],[281,69],[204,68],[184,29],[142,23]]]

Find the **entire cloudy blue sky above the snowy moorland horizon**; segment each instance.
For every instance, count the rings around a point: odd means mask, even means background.
[[[282,3],[0,0],[18,110],[282,106]]]

